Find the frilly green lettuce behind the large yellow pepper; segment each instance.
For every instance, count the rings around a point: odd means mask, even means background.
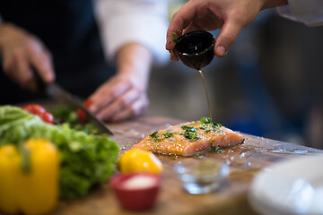
[[[18,145],[30,138],[56,144],[60,153],[60,197],[86,195],[92,185],[106,181],[118,160],[118,143],[107,136],[75,131],[69,125],[50,125],[20,107],[0,107],[0,146]]]

